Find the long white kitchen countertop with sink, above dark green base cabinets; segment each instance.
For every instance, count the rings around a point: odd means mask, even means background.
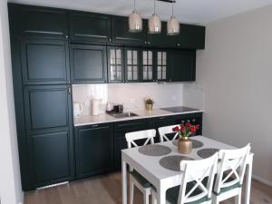
[[[87,116],[81,116],[79,118],[73,118],[73,125],[76,127],[76,126],[83,126],[83,125],[90,125],[90,124],[97,124],[97,123],[114,122],[114,121],[130,121],[130,120],[137,120],[137,119],[144,119],[144,118],[180,115],[180,114],[203,112],[203,111],[199,110],[199,111],[192,111],[192,112],[167,112],[160,109],[153,109],[151,112],[148,112],[145,110],[135,110],[131,112],[138,114],[138,116],[127,117],[127,118],[114,118],[113,116],[107,113],[102,113],[97,116],[87,115]]]

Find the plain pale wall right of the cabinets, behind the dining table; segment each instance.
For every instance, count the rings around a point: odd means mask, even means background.
[[[271,20],[272,5],[208,24],[196,83],[204,91],[204,135],[237,147],[251,142],[253,173],[270,184]]]

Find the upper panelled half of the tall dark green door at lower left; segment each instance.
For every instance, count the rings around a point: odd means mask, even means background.
[[[67,131],[72,124],[71,88],[67,85],[24,87],[27,133]]]

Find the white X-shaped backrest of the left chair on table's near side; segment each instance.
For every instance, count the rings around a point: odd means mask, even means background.
[[[211,199],[213,180],[218,165],[218,153],[204,160],[181,160],[183,171],[178,204],[193,202],[198,199]],[[193,182],[190,182],[193,180]],[[204,182],[207,180],[207,182]],[[189,188],[188,183],[193,186]],[[189,188],[189,189],[187,189]]]

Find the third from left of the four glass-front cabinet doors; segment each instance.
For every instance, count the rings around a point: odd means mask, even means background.
[[[154,52],[151,50],[142,50],[141,54],[142,82],[154,82]]]

